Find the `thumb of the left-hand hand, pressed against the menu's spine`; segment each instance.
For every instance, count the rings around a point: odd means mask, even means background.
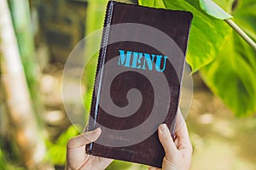
[[[102,129],[101,127],[98,127],[93,131],[86,132],[86,133],[80,134],[79,136],[73,137],[72,139],[69,139],[67,143],[67,148],[69,149],[78,148],[85,144],[90,144],[91,142],[96,141],[96,139],[99,138],[101,133],[102,133]]]

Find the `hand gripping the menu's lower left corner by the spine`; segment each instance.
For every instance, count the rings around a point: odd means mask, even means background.
[[[85,144],[96,141],[101,133],[101,128],[96,128],[94,131],[69,139],[67,143],[67,170],[102,170],[108,167],[111,161],[113,161],[112,159],[90,156],[85,152]]]

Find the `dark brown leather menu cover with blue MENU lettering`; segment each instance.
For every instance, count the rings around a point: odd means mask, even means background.
[[[157,127],[174,132],[192,14],[108,2],[86,152],[161,167]]]

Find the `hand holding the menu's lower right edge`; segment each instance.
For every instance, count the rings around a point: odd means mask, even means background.
[[[189,170],[192,156],[192,145],[183,116],[177,114],[175,139],[172,140],[171,133],[166,124],[161,124],[158,129],[160,143],[163,145],[166,156],[162,163],[163,170]],[[149,167],[149,170],[160,168]]]

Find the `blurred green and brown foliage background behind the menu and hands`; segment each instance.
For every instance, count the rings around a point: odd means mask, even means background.
[[[121,2],[194,14],[187,55],[195,86],[187,119],[191,169],[256,169],[256,50],[224,20],[201,9],[202,0]],[[254,0],[214,2],[256,41]],[[67,140],[83,127],[73,127],[65,114],[63,67],[75,45],[102,28],[107,3],[0,0],[0,169],[64,169]],[[95,41],[86,43],[86,51]],[[87,109],[96,59],[97,54],[84,71]],[[113,161],[108,169],[147,167]]]

